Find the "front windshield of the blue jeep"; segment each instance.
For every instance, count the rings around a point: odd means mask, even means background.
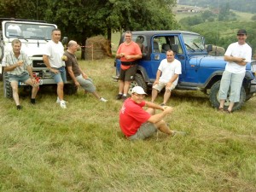
[[[204,41],[199,35],[183,34],[184,44],[189,52],[204,51]]]

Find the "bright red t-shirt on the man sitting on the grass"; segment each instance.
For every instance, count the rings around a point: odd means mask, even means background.
[[[143,110],[146,102],[137,103],[128,98],[119,112],[119,125],[125,136],[137,133],[138,128],[150,118],[150,114]]]

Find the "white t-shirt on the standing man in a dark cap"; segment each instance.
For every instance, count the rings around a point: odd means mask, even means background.
[[[246,62],[252,60],[252,48],[248,44],[238,44],[238,42],[230,44],[225,54],[227,56],[236,56],[245,58]],[[236,64],[236,62],[227,61],[225,70],[230,73],[245,73],[246,66]]]

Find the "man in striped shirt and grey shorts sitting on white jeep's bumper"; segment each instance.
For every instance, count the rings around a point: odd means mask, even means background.
[[[18,93],[19,81],[32,86],[31,103],[36,103],[38,93],[38,82],[33,79],[32,62],[28,59],[26,53],[21,51],[21,42],[19,39],[12,41],[12,50],[3,56],[3,71],[9,73],[9,81],[13,90],[13,97],[17,109],[20,110],[20,101]]]

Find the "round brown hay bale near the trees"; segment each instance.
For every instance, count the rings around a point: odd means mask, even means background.
[[[85,42],[85,59],[101,60],[112,56],[111,47],[107,38],[102,35],[88,38]]]

